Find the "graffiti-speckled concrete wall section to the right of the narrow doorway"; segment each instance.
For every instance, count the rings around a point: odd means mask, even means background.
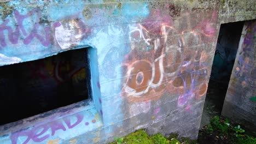
[[[256,21],[247,21],[243,27],[236,62],[230,77],[222,115],[256,129],[255,57]]]

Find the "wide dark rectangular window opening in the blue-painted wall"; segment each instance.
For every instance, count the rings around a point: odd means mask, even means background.
[[[90,96],[88,49],[0,67],[0,125]]]

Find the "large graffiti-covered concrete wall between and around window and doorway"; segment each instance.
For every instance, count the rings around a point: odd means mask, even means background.
[[[0,143],[106,143],[141,128],[196,139],[220,21],[233,20],[221,4],[1,2],[0,65],[90,46],[92,101],[3,125]]]

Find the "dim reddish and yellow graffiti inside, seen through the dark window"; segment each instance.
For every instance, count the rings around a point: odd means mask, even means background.
[[[25,63],[24,66],[30,69],[28,73],[32,79],[51,79],[57,83],[65,82],[74,78],[77,82],[85,79],[86,53],[83,49],[59,55],[47,57],[41,61]],[[80,62],[80,63],[79,63]]]

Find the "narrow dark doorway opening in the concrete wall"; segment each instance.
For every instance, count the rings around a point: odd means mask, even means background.
[[[243,21],[220,25],[200,127],[220,115],[243,29]]]

